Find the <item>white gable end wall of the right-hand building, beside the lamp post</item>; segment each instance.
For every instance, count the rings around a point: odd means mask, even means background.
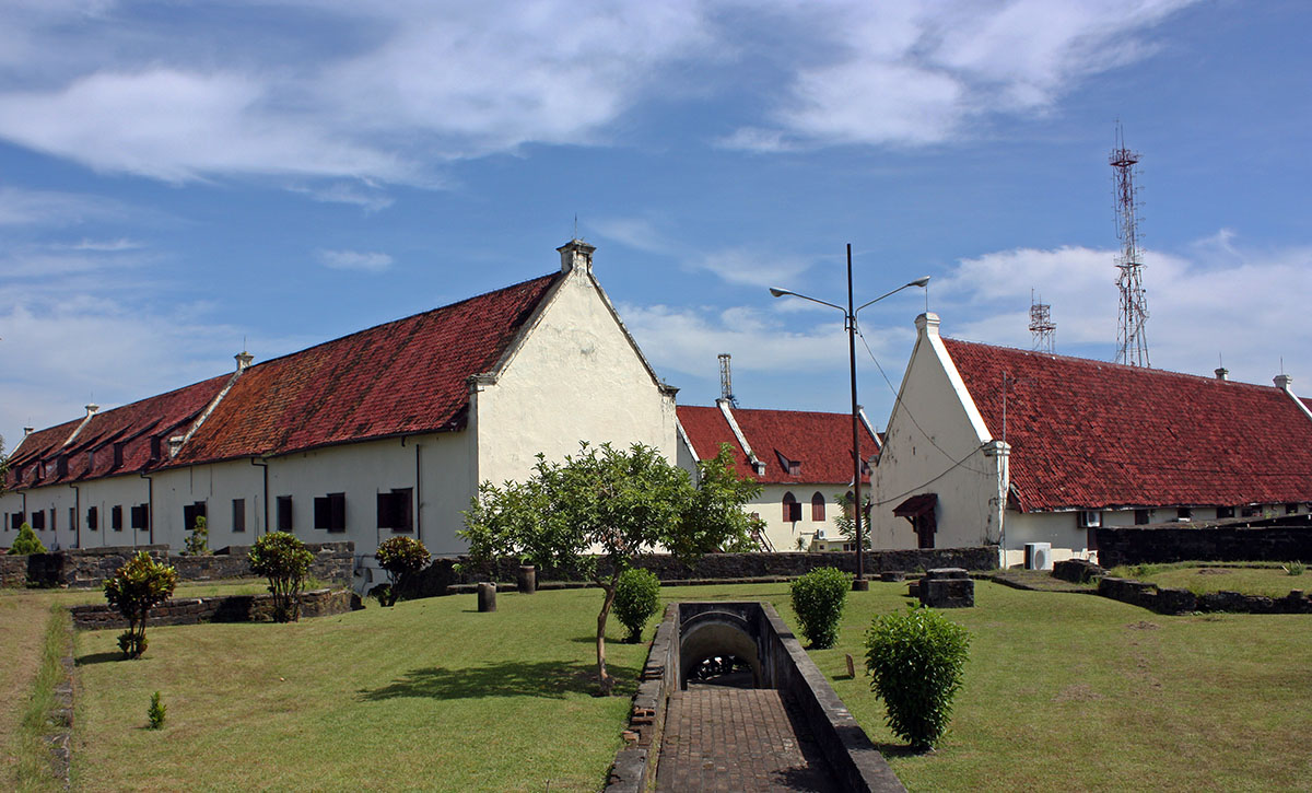
[[[916,319],[918,335],[875,466],[874,547],[916,547],[893,508],[911,496],[938,495],[935,547],[998,542],[1005,448],[992,441],[956,366],[938,337],[938,316]]]

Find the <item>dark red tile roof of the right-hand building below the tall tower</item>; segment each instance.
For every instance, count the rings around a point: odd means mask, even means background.
[[[1025,512],[1312,502],[1312,420],[1273,386],[943,339]]]

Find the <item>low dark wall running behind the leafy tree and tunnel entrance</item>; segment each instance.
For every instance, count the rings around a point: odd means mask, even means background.
[[[457,565],[463,570],[455,570]],[[694,565],[682,565],[670,554],[648,554],[638,559],[638,566],[651,570],[663,582],[687,579],[745,579],[796,578],[817,567],[837,567],[857,571],[857,557],[851,553],[748,553],[707,554]],[[934,567],[964,567],[966,570],[997,570],[997,546],[942,547],[911,550],[876,550],[866,554],[866,574],[878,575],[886,570],[933,570]],[[480,580],[514,582],[520,565],[501,559],[491,570],[475,567],[468,558],[434,559],[407,586],[412,597],[446,595],[453,584],[472,584]],[[577,571],[538,570],[538,582],[580,580]]]

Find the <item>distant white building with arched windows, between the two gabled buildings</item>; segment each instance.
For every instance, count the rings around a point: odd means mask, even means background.
[[[865,461],[879,440],[863,414],[859,419]],[[853,490],[850,414],[735,408],[720,399],[715,407],[681,404],[678,423],[681,466],[693,471],[728,444],[735,473],[762,486],[747,508],[765,521],[764,550],[845,550],[834,519],[838,499]],[[862,470],[869,487],[865,462]]]

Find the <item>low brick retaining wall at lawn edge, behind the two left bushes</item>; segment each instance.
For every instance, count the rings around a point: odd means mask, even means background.
[[[300,595],[302,617],[325,617],[363,608],[350,589],[315,589]],[[68,609],[73,625],[88,630],[127,628],[127,620],[110,605],[75,605]],[[180,597],[151,609],[146,624],[195,625],[197,622],[269,622],[273,595],[224,595],[219,597]]]

